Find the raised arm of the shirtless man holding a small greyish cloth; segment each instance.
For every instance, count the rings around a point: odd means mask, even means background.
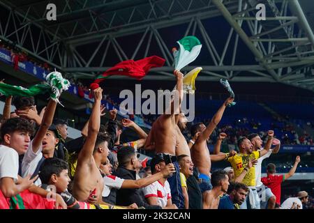
[[[200,134],[200,137],[198,137],[197,142],[206,141],[210,137],[211,133],[213,133],[214,129],[216,128],[221,118],[223,117],[223,112],[225,112],[225,108],[227,107],[227,105],[233,102],[233,100],[234,98],[227,98],[227,100],[225,100],[225,102],[218,109],[214,117],[211,118],[211,122],[209,123],[209,125],[207,125],[207,128]]]

